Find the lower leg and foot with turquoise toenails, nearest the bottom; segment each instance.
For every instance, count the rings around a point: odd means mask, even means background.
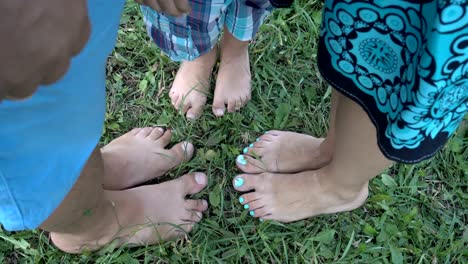
[[[296,174],[243,174],[234,179],[241,203],[251,215],[292,222],[353,210],[368,195],[368,182],[392,164],[377,145],[375,127],[367,114],[345,96],[336,112],[333,160],[315,171]]]

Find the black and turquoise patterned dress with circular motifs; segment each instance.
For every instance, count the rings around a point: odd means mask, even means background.
[[[468,109],[468,0],[326,0],[318,63],[363,107],[386,157],[416,163]]]

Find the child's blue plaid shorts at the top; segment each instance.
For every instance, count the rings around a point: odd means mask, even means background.
[[[192,61],[208,53],[224,26],[240,41],[255,37],[273,9],[268,0],[190,0],[192,12],[181,17],[141,10],[148,34],[173,61]]]

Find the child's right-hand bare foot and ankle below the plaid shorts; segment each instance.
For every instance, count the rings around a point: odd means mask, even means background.
[[[215,116],[223,116],[226,105],[228,112],[234,112],[250,101],[251,75],[248,47],[248,42],[237,40],[225,29],[213,99]]]

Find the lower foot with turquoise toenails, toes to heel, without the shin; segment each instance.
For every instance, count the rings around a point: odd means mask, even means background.
[[[367,198],[367,183],[358,191],[327,182],[323,170],[297,174],[242,174],[234,187],[250,192],[239,197],[249,214],[264,220],[293,222],[360,207]]]

